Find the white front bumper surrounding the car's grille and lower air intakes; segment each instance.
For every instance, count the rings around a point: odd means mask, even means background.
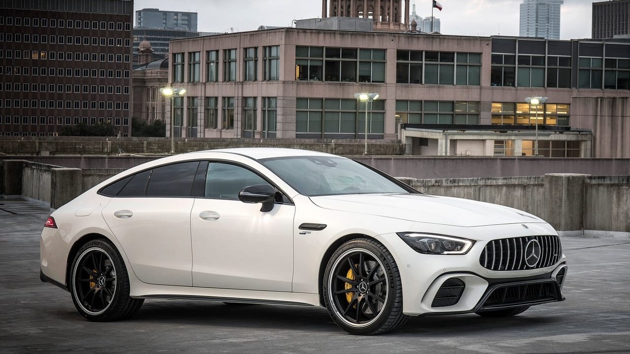
[[[554,235],[549,224],[508,224],[482,227],[425,226],[426,232],[483,240],[488,235],[508,237]],[[498,237],[497,237],[498,238]],[[478,241],[467,254],[420,254],[395,234],[379,237],[396,259],[403,286],[403,313],[409,316],[457,314],[544,304],[564,300],[566,256],[544,268],[490,270],[480,264],[488,241]]]

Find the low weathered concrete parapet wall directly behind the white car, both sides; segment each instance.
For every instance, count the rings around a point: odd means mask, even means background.
[[[3,161],[3,195],[38,200],[59,208],[117,173],[120,168],[60,168],[23,160]],[[556,173],[544,176],[448,178],[401,177],[432,195],[468,198],[524,210],[546,220],[561,234],[630,238],[630,175],[590,176]],[[592,232],[595,231],[595,232]]]

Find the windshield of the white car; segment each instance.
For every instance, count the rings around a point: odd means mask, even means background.
[[[344,157],[296,156],[260,161],[300,194],[409,193],[372,169]]]

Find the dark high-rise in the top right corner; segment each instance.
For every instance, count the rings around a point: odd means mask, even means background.
[[[593,3],[592,38],[630,34],[630,0]]]

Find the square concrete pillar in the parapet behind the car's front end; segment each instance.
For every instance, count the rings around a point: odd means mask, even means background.
[[[590,174],[548,173],[544,176],[544,219],[557,231],[584,228],[584,183]]]

